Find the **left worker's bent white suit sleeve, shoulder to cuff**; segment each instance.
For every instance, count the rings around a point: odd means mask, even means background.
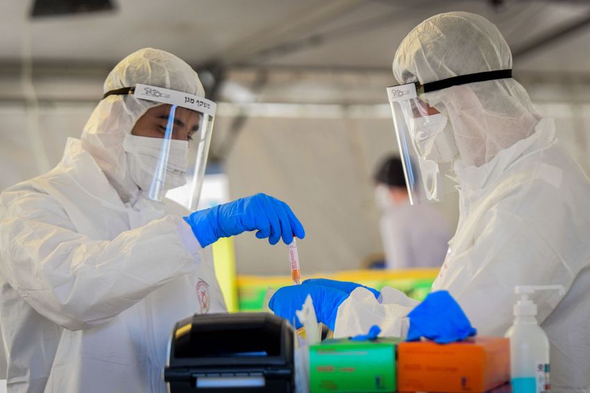
[[[13,191],[18,192],[18,191]],[[193,272],[194,256],[166,216],[92,241],[76,232],[51,196],[27,192],[1,203],[0,247],[10,286],[35,310],[69,330],[106,322],[175,277]]]

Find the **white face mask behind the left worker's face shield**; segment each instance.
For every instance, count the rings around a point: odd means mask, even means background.
[[[164,139],[138,137],[126,134],[123,149],[127,152],[127,164],[131,178],[140,189],[149,190],[158,168]],[[186,184],[188,142],[171,139],[170,154],[165,168],[164,189],[175,189]]]

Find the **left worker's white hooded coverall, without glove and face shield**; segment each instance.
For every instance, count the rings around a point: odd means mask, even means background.
[[[203,96],[185,62],[154,49],[122,60],[104,90],[136,83]],[[8,392],[165,392],[174,323],[225,311],[187,211],[130,179],[121,145],[154,105],[103,99],[56,168],[0,195]]]

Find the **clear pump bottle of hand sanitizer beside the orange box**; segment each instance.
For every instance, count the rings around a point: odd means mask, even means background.
[[[549,340],[537,323],[537,305],[528,296],[537,290],[559,290],[563,294],[564,287],[517,286],[514,290],[521,299],[514,305],[514,324],[505,335],[510,339],[512,392],[549,392]]]

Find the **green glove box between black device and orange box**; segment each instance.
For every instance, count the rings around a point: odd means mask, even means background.
[[[396,391],[398,338],[325,340],[310,347],[311,393]]]

